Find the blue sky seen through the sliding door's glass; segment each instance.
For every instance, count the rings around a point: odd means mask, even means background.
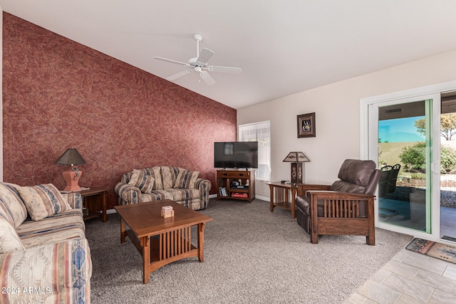
[[[420,142],[425,137],[417,132],[415,121],[424,118],[406,117],[378,122],[378,138],[381,142]]]

